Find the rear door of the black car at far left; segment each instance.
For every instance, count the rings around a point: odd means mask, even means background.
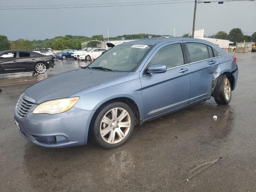
[[[36,63],[36,54],[29,51],[18,52],[18,68],[23,71],[34,70],[34,64]]]

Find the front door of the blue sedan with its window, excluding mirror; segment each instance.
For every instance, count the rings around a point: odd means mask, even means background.
[[[181,43],[164,44],[150,58],[148,66],[164,64],[167,71],[160,74],[144,73],[140,78],[145,119],[188,104],[190,95],[191,70],[184,61]]]

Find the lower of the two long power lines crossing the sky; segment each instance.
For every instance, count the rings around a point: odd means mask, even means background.
[[[192,2],[194,2],[194,1],[186,1],[186,2],[170,2],[170,3],[149,3],[149,4],[130,4],[130,5],[82,6],[82,7],[7,8],[7,9],[0,9],[0,10],[25,10],[25,9],[74,9],[74,8],[124,7],[124,6],[142,6],[142,5],[180,4],[180,3],[192,3]]]

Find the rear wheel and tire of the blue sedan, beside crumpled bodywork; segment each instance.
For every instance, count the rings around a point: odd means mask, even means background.
[[[217,104],[226,105],[231,101],[232,88],[230,80],[226,74],[222,74],[216,83],[213,92],[214,100]]]

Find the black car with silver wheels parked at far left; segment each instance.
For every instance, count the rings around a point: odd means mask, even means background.
[[[26,50],[0,52],[0,73],[34,71],[39,74],[54,66],[54,57]]]

